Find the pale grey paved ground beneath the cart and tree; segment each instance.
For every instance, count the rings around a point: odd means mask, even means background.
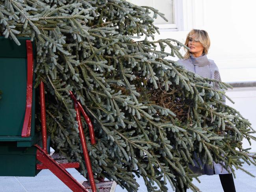
[[[256,167],[245,165],[243,168],[256,175]],[[78,181],[84,178],[75,170],[68,169]],[[202,192],[223,192],[221,182],[218,175],[203,175],[199,177],[201,183],[194,181]],[[143,179],[137,178],[140,185],[139,192],[147,192]],[[256,178],[247,175],[238,170],[236,171],[236,179],[234,179],[237,192],[256,192]],[[169,191],[172,192],[171,186]],[[54,174],[49,170],[42,170],[36,177],[0,177],[0,192],[70,192],[71,190],[65,186]],[[115,192],[126,192],[120,186],[116,187]],[[187,190],[191,192],[191,190]]]

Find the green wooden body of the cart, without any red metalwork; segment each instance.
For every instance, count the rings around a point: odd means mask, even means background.
[[[32,90],[30,136],[22,137],[26,111],[27,38],[21,46],[0,37],[0,175],[35,176],[39,135],[35,133],[35,90]],[[32,50],[35,50],[33,47]]]

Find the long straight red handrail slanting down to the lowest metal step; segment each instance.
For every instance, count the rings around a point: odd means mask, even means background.
[[[93,178],[93,169],[91,167],[91,161],[90,161],[89,153],[87,150],[85,136],[83,133],[83,126],[82,126],[82,120],[81,120],[81,116],[80,116],[80,109],[78,108],[78,102],[74,102],[74,107],[76,110],[76,120],[78,121],[78,129],[79,129],[79,136],[80,136],[81,145],[82,145],[82,149],[83,149],[83,157],[85,159],[85,165],[87,168],[91,188],[92,188],[93,192],[97,192],[95,181]]]

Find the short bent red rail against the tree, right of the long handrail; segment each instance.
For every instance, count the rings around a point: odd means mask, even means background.
[[[70,97],[74,100],[74,103],[77,103],[79,110],[82,112],[83,117],[85,119],[85,122],[87,123],[88,127],[89,127],[89,132],[90,132],[90,138],[91,138],[91,144],[96,144],[96,140],[95,140],[95,135],[94,135],[94,129],[93,129],[93,124],[91,122],[91,119],[89,118],[89,116],[85,113],[85,111],[83,110],[83,107],[81,105],[80,102],[78,102],[78,100],[76,100],[76,97],[74,96],[74,94],[72,93],[72,91],[69,91],[70,93]]]

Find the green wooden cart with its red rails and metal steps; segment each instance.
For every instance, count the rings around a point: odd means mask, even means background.
[[[87,181],[79,183],[66,171],[66,168],[79,169],[78,162],[68,162],[58,153],[48,154],[50,143],[46,134],[44,85],[41,82],[37,91],[33,86],[35,44],[25,37],[19,38],[19,42],[20,46],[10,39],[0,37],[0,176],[33,177],[40,170],[49,169],[72,191],[96,192],[97,186],[100,191],[113,192],[115,182],[94,182],[80,113],[91,127],[91,142],[95,144],[93,126],[72,92],[70,95],[80,124],[80,138],[91,185]],[[35,103],[39,102],[36,92],[40,92],[40,133],[35,131]]]

